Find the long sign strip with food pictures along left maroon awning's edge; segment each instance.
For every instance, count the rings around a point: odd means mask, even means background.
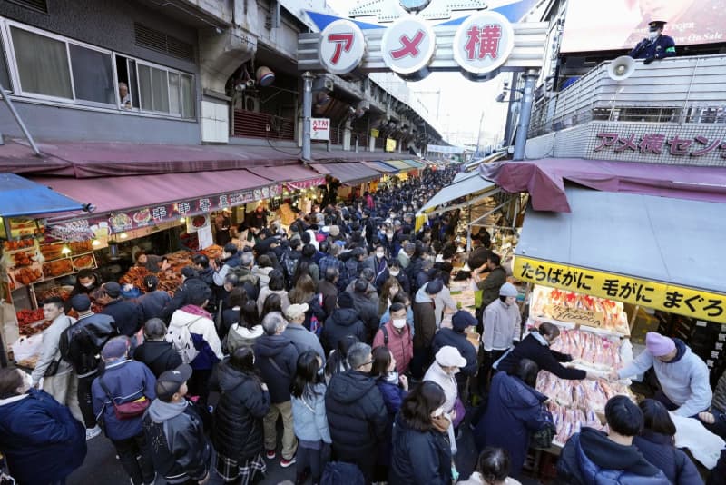
[[[142,227],[168,223],[182,217],[211,213],[244,203],[270,199],[281,194],[281,185],[269,185],[234,193],[221,193],[210,197],[164,203],[142,209],[100,214],[96,217],[68,223],[49,224],[50,230],[48,233],[64,234],[64,241],[84,241],[95,237],[95,231],[105,225],[108,225],[111,234],[123,233]]]

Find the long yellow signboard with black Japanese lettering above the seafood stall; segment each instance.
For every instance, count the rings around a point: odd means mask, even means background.
[[[726,295],[720,293],[524,256],[515,256],[514,276],[525,282],[678,313],[699,320],[726,323]]]

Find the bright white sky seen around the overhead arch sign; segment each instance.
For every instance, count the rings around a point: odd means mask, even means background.
[[[358,4],[356,0],[327,0],[327,3],[341,16],[347,15],[348,10]],[[492,81],[475,83],[459,73],[433,73],[422,81],[408,82],[407,86],[414,92],[441,91],[437,121],[446,142],[476,145],[477,126],[480,125],[481,146],[486,146],[504,138],[507,104],[496,103],[495,98],[502,92],[503,82],[510,78],[511,74],[505,73]],[[394,87],[390,85],[393,83],[405,82],[391,74],[383,85],[388,89]],[[419,94],[419,97],[429,113],[436,115],[438,95]]]

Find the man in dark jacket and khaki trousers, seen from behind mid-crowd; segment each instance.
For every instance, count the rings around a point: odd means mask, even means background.
[[[254,344],[255,367],[262,380],[270,386],[270,411],[265,415],[265,450],[267,459],[275,459],[277,448],[277,422],[282,415],[282,459],[280,466],[287,468],[295,463],[298,441],[292,428],[292,402],[289,385],[298,365],[298,350],[288,337],[282,335],[288,322],[280,312],[270,312],[262,320],[262,335]]]

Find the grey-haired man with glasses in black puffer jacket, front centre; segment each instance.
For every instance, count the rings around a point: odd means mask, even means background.
[[[383,397],[369,376],[372,363],[370,346],[354,343],[348,350],[350,369],[335,374],[325,394],[333,452],[338,460],[356,464],[367,483],[388,425]]]

